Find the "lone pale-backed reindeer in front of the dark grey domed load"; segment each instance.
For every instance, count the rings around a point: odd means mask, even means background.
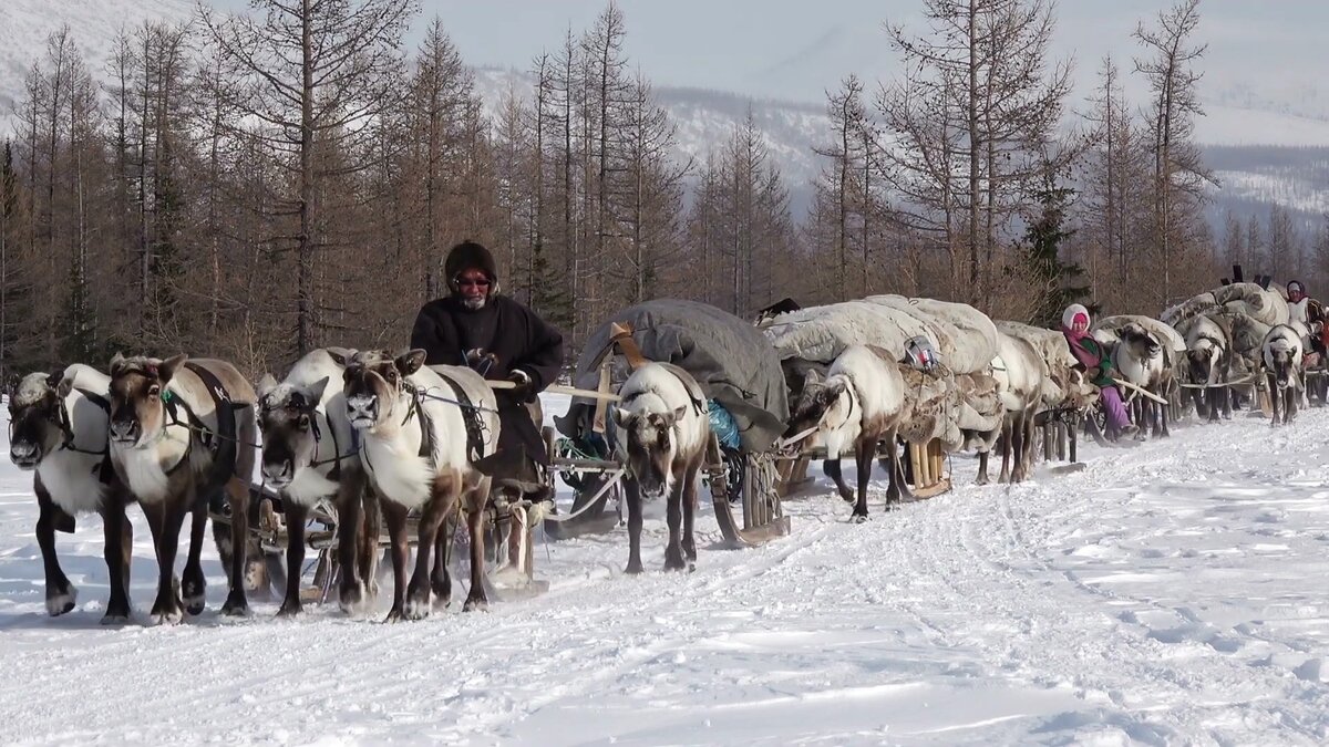
[[[692,512],[696,479],[711,440],[706,396],[691,374],[667,363],[641,362],[618,389],[614,448],[625,465],[627,569],[642,572],[642,496],[668,496],[664,570],[696,561]],[[716,459],[719,456],[716,455]],[[682,521],[682,534],[679,522]]]

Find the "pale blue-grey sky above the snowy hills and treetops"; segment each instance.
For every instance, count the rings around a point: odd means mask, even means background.
[[[245,0],[213,0],[241,8]],[[856,72],[889,78],[894,53],[882,21],[916,23],[922,0],[619,0],[627,56],[658,85],[714,88],[820,102]],[[1103,54],[1124,70],[1139,53],[1138,20],[1167,0],[1061,0],[1055,52],[1075,54],[1076,78],[1092,81]],[[605,0],[423,0],[411,41],[435,15],[472,65],[529,68],[565,29],[590,27]],[[1268,90],[1277,101],[1316,106],[1329,70],[1326,0],[1201,0],[1199,39],[1209,43],[1205,90]],[[1078,96],[1082,93],[1076,92]],[[1310,101],[1308,101],[1308,98]],[[1329,112],[1329,101],[1321,104]]]

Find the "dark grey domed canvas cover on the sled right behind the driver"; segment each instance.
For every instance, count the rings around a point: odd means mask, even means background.
[[[614,323],[626,323],[633,340],[649,360],[672,363],[696,379],[707,399],[734,417],[744,451],[764,452],[784,432],[789,417],[788,389],[780,359],[751,323],[704,303],[657,299],[625,308],[601,324],[577,360],[574,385],[594,389],[599,364],[610,350]],[[613,356],[615,387],[627,380],[629,366]],[[595,403],[574,397],[566,417],[556,419],[560,432],[575,437],[594,412]]]

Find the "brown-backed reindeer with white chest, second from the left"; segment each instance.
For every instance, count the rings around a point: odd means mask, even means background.
[[[110,362],[110,463],[144,508],[157,550],[154,623],[178,623],[203,611],[199,562],[209,497],[223,490],[230,502],[230,537],[214,526],[229,593],[222,613],[249,613],[245,548],[249,544],[250,476],[254,473],[256,396],[234,366],[215,359],[167,360],[146,356]],[[173,584],[185,514],[194,512],[183,584]],[[291,581],[294,582],[294,580]],[[183,594],[183,601],[181,599]],[[183,609],[182,609],[183,607]]]

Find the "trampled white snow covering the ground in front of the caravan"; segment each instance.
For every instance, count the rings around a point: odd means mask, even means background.
[[[550,403],[554,404],[554,403]],[[5,448],[5,453],[8,449]],[[43,606],[31,482],[0,461],[0,723],[8,744],[1312,744],[1329,740],[1329,411],[1240,417],[1015,488],[847,524],[824,485],[793,532],[647,573],[626,533],[537,546],[548,594],[385,626],[275,605],[98,625],[101,528],[58,537],[80,587]],[[460,598],[460,595],[459,595]]]

